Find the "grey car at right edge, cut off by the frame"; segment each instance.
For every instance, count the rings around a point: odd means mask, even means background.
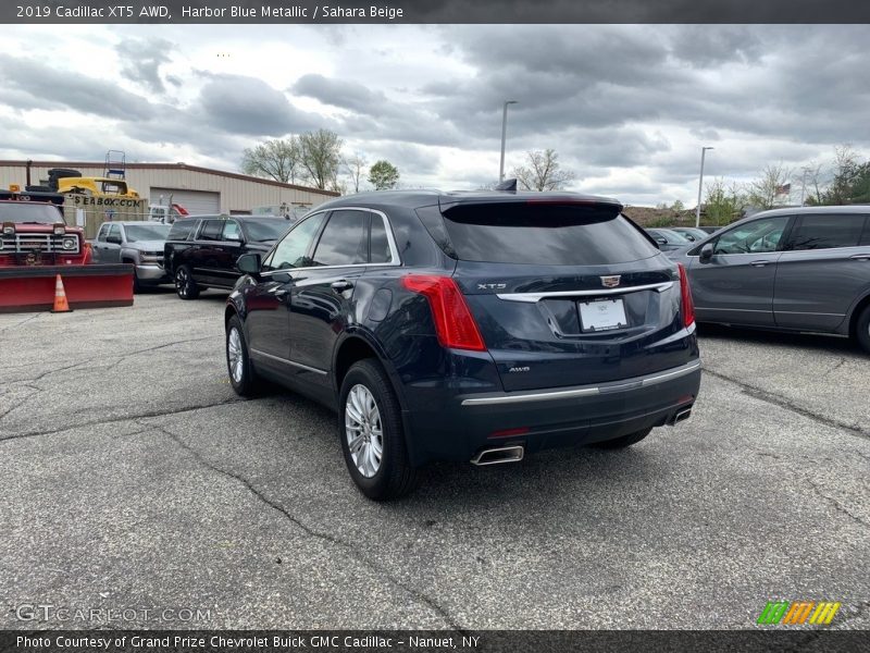
[[[669,256],[700,322],[849,335],[870,352],[870,207],[763,211]]]

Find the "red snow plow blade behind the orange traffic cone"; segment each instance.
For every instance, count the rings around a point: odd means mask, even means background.
[[[133,306],[133,266],[16,266],[0,268],[0,312],[50,310],[58,274],[74,310]]]

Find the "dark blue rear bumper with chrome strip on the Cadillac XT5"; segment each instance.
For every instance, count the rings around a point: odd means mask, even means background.
[[[700,386],[700,360],[612,383],[534,392],[459,394],[437,410],[405,415],[409,453],[470,460],[483,448],[521,444],[526,452],[611,440],[663,426],[691,407]]]

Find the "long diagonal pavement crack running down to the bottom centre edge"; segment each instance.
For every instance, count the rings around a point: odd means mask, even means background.
[[[136,421],[136,423],[138,423],[140,426],[146,426],[146,424],[144,424],[142,422],[140,422],[138,420]],[[299,529],[301,529],[309,537],[315,538],[315,539],[319,539],[319,540],[323,540],[325,542],[328,542],[328,543],[331,543],[331,544],[333,544],[335,546],[338,546],[338,547],[343,549],[347,553],[347,555],[350,556],[352,559],[365,565],[371,570],[373,570],[375,574],[386,578],[395,587],[399,588],[400,590],[402,590],[403,592],[406,592],[407,594],[409,594],[410,596],[412,596],[413,599],[415,599],[420,603],[426,605],[430,609],[432,609],[435,614],[437,614],[442,619],[444,619],[444,621],[450,627],[451,630],[455,630],[456,632],[459,632],[460,634],[464,634],[464,636],[469,636],[470,634],[469,631],[463,630],[462,628],[459,627],[459,625],[453,620],[453,618],[450,616],[450,614],[447,612],[447,609],[444,606],[442,606],[437,601],[435,601],[434,599],[431,599],[430,596],[427,596],[426,594],[424,594],[420,590],[417,590],[417,589],[414,589],[412,587],[409,587],[409,586],[405,584],[401,580],[399,580],[398,578],[393,576],[389,572],[388,569],[386,569],[384,566],[380,565],[378,563],[375,563],[374,560],[365,557],[365,556],[360,555],[353,549],[353,546],[351,546],[348,542],[345,542],[344,540],[333,535],[332,533],[318,531],[318,530],[311,528],[310,526],[303,523],[301,520],[299,520],[299,518],[297,518],[294,515],[291,515],[290,513],[288,513],[283,506],[281,506],[279,504],[275,503],[274,501],[272,501],[271,498],[265,496],[265,494],[263,494],[260,490],[254,488],[250,483],[250,481],[248,481],[248,479],[244,478],[243,476],[240,476],[238,473],[235,473],[233,471],[229,471],[229,470],[223,469],[222,467],[217,467],[216,465],[213,465],[212,463],[207,460],[197,449],[195,449],[194,447],[188,445],[186,442],[184,442],[178,435],[176,435],[172,431],[169,431],[169,430],[166,430],[165,428],[163,428],[163,427],[161,427],[159,424],[149,424],[149,426],[153,426],[154,429],[157,429],[158,431],[160,431],[161,433],[166,435],[170,440],[172,440],[181,448],[183,448],[186,452],[188,452],[203,467],[214,471],[215,473],[220,473],[220,475],[222,475],[224,477],[227,477],[229,479],[233,479],[233,480],[241,483],[260,502],[262,502],[263,504],[265,504],[266,506],[269,506],[273,510],[276,510],[277,513],[281,513],[286,519],[288,519],[291,523],[294,523]]]

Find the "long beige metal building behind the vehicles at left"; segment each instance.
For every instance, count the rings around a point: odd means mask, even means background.
[[[0,161],[0,188],[28,185],[27,168],[27,161]],[[71,168],[83,176],[107,176],[103,162],[30,161],[29,185],[47,185],[52,168]],[[247,213],[254,207],[283,204],[315,207],[338,195],[186,163],[126,163],[125,180],[149,204],[165,204],[171,195],[172,201],[189,213]]]

